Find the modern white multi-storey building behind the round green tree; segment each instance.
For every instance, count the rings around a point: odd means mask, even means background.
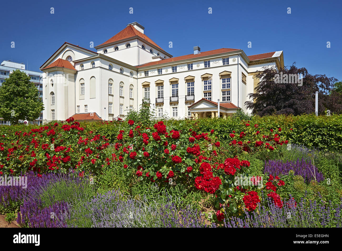
[[[37,87],[39,91],[39,97],[43,98],[43,80],[42,80],[42,72],[38,71],[30,71],[25,69],[24,63],[16,63],[12,62],[11,60],[3,60],[0,65],[0,86],[9,75],[15,70],[21,70],[25,72],[30,78],[31,82]],[[1,104],[0,104],[1,105]],[[43,111],[40,113],[39,117],[35,121],[29,121],[30,124],[41,124],[43,121]],[[27,123],[27,121],[19,121],[21,123]],[[9,121],[4,121],[0,117],[0,125],[9,125]]]

